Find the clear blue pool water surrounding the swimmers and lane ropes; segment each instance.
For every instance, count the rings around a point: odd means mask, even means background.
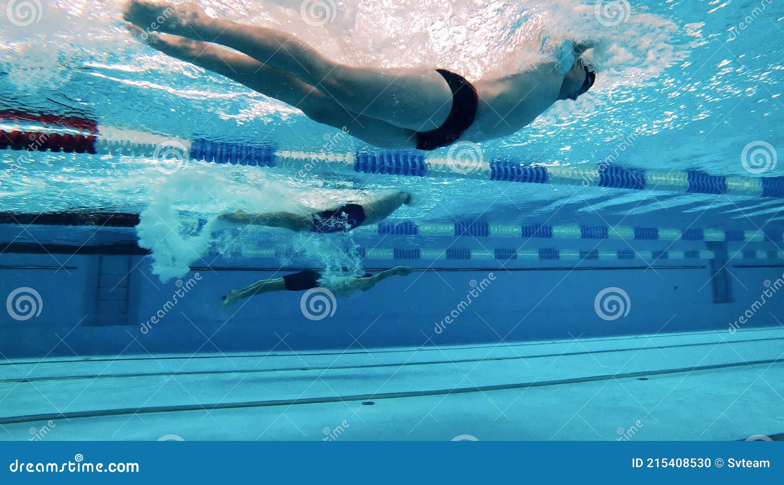
[[[55,115],[94,124],[100,143],[150,143],[98,154],[0,144],[0,439],[782,433],[784,205],[754,189],[784,175],[784,49],[771,42],[782,5],[196,3],[290,31],[340,62],[445,67],[469,80],[522,69],[562,38],[593,40],[593,89],[480,143],[483,161],[551,174],[705,172],[747,190],[303,172],[187,153],[171,165],[162,152],[194,140],[278,154],[379,150],[140,44],[122,2],[0,2],[0,136],[92,134],[42,116]],[[314,235],[215,220],[384,190],[415,196],[387,221],[394,230]],[[86,213],[129,219],[63,223]],[[221,309],[228,291],[295,270],[400,265],[414,272],[348,299],[276,293]]]

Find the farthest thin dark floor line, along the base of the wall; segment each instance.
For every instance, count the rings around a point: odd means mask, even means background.
[[[760,328],[748,328],[743,330],[744,333],[746,332],[753,332],[753,331],[781,331],[782,329],[779,327],[760,327]],[[665,335],[652,335],[649,337],[648,335],[615,335],[613,337],[606,337],[606,338],[586,338],[583,340],[583,343],[587,342],[617,342],[619,340],[637,340],[637,339],[645,339],[651,340],[652,338],[673,338],[673,337],[681,337],[684,335],[708,335],[708,334],[717,334],[719,333],[718,330],[697,330],[697,331],[684,331],[684,332],[677,332],[673,334],[665,334]],[[779,337],[771,337],[771,338],[760,338],[759,340],[768,340],[773,339],[776,340]],[[526,347],[526,346],[550,346],[559,343],[570,342],[568,340],[550,340],[550,341],[536,341],[536,342],[521,342],[515,344],[504,344],[504,348],[514,348],[514,347]],[[735,341],[738,342],[738,341]],[[753,342],[750,340],[749,342]],[[721,343],[721,342],[710,342],[710,343]],[[702,345],[702,344],[690,344],[690,345]],[[248,354],[248,353],[237,353],[237,354],[230,354],[230,355],[209,355],[209,356],[172,356],[172,357],[101,357],[92,359],[90,357],[82,357],[81,359],[61,359],[61,360],[29,360],[29,361],[20,361],[17,360],[13,362],[8,360],[7,362],[0,362],[0,367],[4,365],[12,365],[22,366],[22,365],[32,365],[38,367],[39,365],[47,365],[47,364],[75,364],[79,362],[130,362],[136,360],[199,360],[199,359],[253,359],[256,357],[318,357],[318,356],[343,356],[343,355],[372,355],[376,353],[410,353],[410,352],[444,352],[445,350],[474,350],[474,349],[489,349],[491,347],[499,347],[501,344],[499,343],[488,343],[486,346],[459,346],[459,347],[420,347],[419,349],[394,349],[394,350],[361,350],[357,352],[314,352],[314,353],[257,353],[257,354]]]

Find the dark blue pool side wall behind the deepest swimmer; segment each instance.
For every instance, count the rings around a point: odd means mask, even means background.
[[[486,269],[426,271],[340,299],[332,317],[309,320],[300,308],[302,294],[260,295],[233,309],[220,309],[221,296],[231,288],[282,273],[198,270],[180,283],[163,284],[151,273],[147,257],[76,255],[59,261],[51,255],[0,255],[0,296],[5,299],[17,288],[29,287],[41,302],[40,313],[26,320],[14,319],[8,308],[0,312],[0,352],[5,358],[342,351],[675,331],[724,333],[731,325],[779,326],[777,315],[784,309],[784,291],[774,291],[782,268],[775,265],[731,268],[734,302],[721,304],[713,302],[710,262],[648,270],[538,266],[493,270],[494,280]],[[118,273],[130,268],[129,277],[123,281],[121,274],[112,280],[112,265]],[[252,267],[278,267],[279,262],[273,265],[271,260],[256,260]],[[218,261],[212,266],[222,265]],[[605,319],[597,313],[597,295],[606,288],[620,288],[628,295],[628,303],[622,302],[622,313],[628,309],[625,316],[609,320],[614,315],[605,314]],[[760,302],[766,289],[773,295]],[[476,296],[468,302],[472,290]],[[744,314],[751,317],[739,321]]]

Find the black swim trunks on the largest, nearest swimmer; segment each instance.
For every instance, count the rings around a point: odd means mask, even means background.
[[[477,118],[479,94],[466,78],[444,69],[437,69],[452,89],[452,110],[441,128],[416,133],[418,150],[435,150],[455,143]]]

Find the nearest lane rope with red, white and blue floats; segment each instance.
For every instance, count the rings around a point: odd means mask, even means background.
[[[179,158],[180,161],[193,159],[216,164],[274,168],[299,176],[307,176],[311,172],[363,173],[784,198],[784,177],[717,176],[697,170],[666,172],[620,165],[531,165],[518,160],[485,160],[481,148],[472,143],[456,145],[453,148],[458,149],[457,153],[452,153],[451,159],[447,159],[416,150],[316,153],[262,144],[172,138],[105,126],[98,127],[97,135],[82,135],[75,128],[71,130],[75,135],[70,132],[45,131],[44,128],[35,128],[38,130],[35,132],[31,129],[14,128],[0,133],[4,139],[10,139],[10,136],[16,140],[0,143],[0,150],[59,150],[57,143],[48,142],[56,137],[82,136],[89,142],[89,147],[80,150],[91,154],[152,157],[154,161],[165,164],[172,161],[173,154],[175,161]],[[64,128],[60,128],[62,130]],[[40,140],[45,143],[38,143]]]

